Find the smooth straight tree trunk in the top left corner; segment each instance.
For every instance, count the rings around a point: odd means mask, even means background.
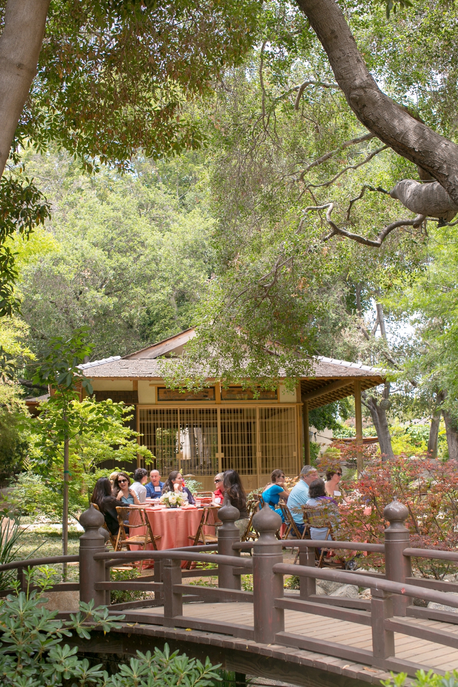
[[[8,0],[0,38],[0,176],[36,74],[49,0]]]

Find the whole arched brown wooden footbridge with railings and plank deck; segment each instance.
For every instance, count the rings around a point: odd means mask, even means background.
[[[55,585],[55,591],[79,589],[80,599],[109,604],[111,589],[154,592],[151,600],[112,605],[125,613],[122,627],[91,639],[76,639],[84,655],[119,662],[167,642],[172,649],[205,659],[237,673],[250,673],[304,687],[358,687],[380,684],[390,671],[415,675],[424,668],[445,673],[458,668],[458,613],[413,605],[414,598],[458,609],[458,584],[416,578],[411,558],[458,563],[458,552],[410,547],[404,526],[408,511],[396,499],[385,508],[389,521],[385,543],[333,542],[334,549],[385,555],[385,575],[315,567],[314,548],[324,541],[276,538],[279,516],[270,508],[255,515],[259,539],[241,543],[238,510],[219,511],[223,524],[218,545],[165,551],[107,551],[99,529],[103,516],[94,508],[82,514],[85,532],[79,556],[19,561],[24,584],[28,565],[79,561],[79,583]],[[299,564],[284,563],[283,550],[299,547]],[[128,561],[154,559],[154,573],[131,581],[111,582],[110,568]],[[183,570],[183,561],[216,567]],[[218,576],[218,587],[190,586],[187,578]],[[253,592],[241,589],[241,575],[253,574]],[[299,594],[284,589],[284,576],[300,579]],[[316,581],[328,580],[371,589],[371,600],[319,596]],[[3,593],[5,594],[5,593]]]

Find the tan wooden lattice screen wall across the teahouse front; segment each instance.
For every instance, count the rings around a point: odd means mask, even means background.
[[[229,468],[240,475],[297,470],[294,407],[139,408],[139,431],[161,475],[172,470],[196,477]]]

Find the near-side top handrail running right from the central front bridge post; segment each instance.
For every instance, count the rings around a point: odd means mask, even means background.
[[[305,565],[288,565],[288,563],[276,563],[273,572],[286,575],[297,575],[299,577],[312,577],[315,579],[329,580],[330,582],[342,582],[346,585],[354,585],[355,578],[352,572],[341,572],[340,570],[324,570],[323,568],[306,567]],[[370,587],[371,589],[388,592],[391,594],[401,594],[402,596],[418,597],[418,587],[414,585],[404,585],[400,582],[392,582],[383,578],[374,578],[366,575],[358,575],[358,585]],[[446,606],[458,608],[458,597],[454,597],[446,592],[430,592],[422,589],[422,597],[427,601],[433,601]]]

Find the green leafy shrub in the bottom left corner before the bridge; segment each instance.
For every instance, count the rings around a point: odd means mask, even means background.
[[[209,659],[200,661],[164,650],[141,653],[128,664],[119,665],[116,675],[102,671],[101,664],[89,666],[87,659],[77,655],[78,646],[63,644],[65,637],[89,639],[91,629],[109,632],[119,627],[124,616],[109,617],[104,606],[80,603],[80,611],[69,620],[56,618],[57,611],[48,611],[40,604],[56,572],[45,566],[29,568],[27,589],[0,601],[0,675],[2,687],[211,687],[220,682],[217,669]],[[31,591],[32,583],[38,586]]]

